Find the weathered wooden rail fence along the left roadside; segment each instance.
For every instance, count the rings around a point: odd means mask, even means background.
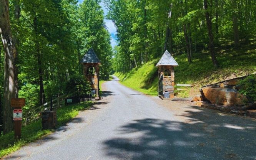
[[[72,94],[63,94],[62,96],[58,96],[57,98],[52,100],[52,108],[57,110],[60,107],[65,106],[65,99],[70,97]],[[51,101],[42,104],[41,106],[35,107],[33,109],[29,109],[25,111],[25,122],[24,125],[27,126],[29,123],[34,122],[35,120],[41,118],[42,112],[50,109]]]

